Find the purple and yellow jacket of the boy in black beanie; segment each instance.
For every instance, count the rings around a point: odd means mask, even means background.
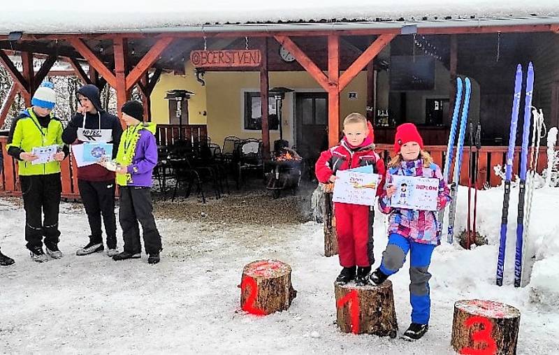
[[[155,124],[129,126],[120,140],[117,162],[128,166],[128,174],[117,174],[120,186],[151,187],[153,169],[157,165]],[[130,159],[129,154],[133,157]]]

